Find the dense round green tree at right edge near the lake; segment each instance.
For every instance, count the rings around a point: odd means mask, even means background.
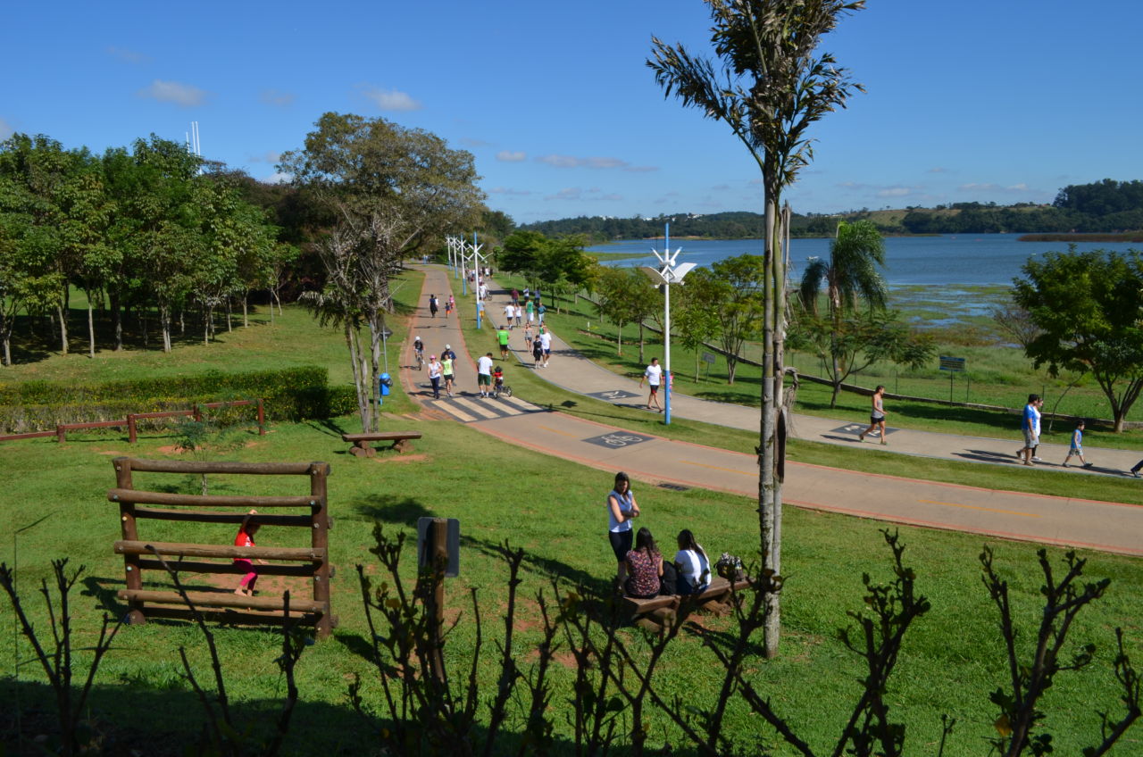
[[[1013,300],[1040,329],[1025,354],[1052,375],[1090,372],[1122,431],[1143,390],[1143,255],[1072,247],[1030,257],[1023,270]]]

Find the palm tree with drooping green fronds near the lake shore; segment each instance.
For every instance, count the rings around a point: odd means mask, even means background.
[[[838,392],[841,390],[838,340],[842,333],[842,320],[847,313],[857,310],[862,302],[870,310],[885,309],[888,290],[878,271],[878,266],[884,265],[885,242],[873,222],[842,221],[830,244],[829,262],[820,257],[810,258],[801,276],[801,306],[810,316],[817,316],[823,285],[825,288],[830,328],[830,377],[833,380],[830,407],[837,405]]]

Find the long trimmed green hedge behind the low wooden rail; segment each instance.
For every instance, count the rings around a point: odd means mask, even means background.
[[[0,432],[23,433],[123,419],[128,413],[187,409],[200,403],[262,398],[267,420],[299,421],[344,415],[357,409],[352,387],[329,387],[325,368],[222,373],[135,378],[98,384],[29,381],[0,387]],[[253,417],[253,415],[251,415]]]

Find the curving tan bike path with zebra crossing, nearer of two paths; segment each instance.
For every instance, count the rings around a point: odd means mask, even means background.
[[[494,400],[473,398],[475,368],[467,358],[459,321],[429,317],[430,293],[449,290],[447,271],[425,269],[421,308],[413,318],[411,333],[421,335],[426,352],[439,354],[445,343],[457,352],[465,367],[458,373],[458,397],[433,401],[425,389],[423,372],[402,368],[402,381],[410,395],[433,411],[438,417],[458,417],[459,403],[465,403],[469,424],[474,429],[544,454],[572,460],[600,470],[625,470],[637,479],[652,484],[669,484],[708,488],[749,497],[758,495],[758,465],[752,454],[716,449],[685,441],[631,432],[614,425],[597,423],[558,412],[528,406],[520,398]],[[494,305],[488,312],[495,313]],[[443,311],[441,311],[443,312]],[[495,316],[491,319],[495,322]],[[486,326],[488,348],[494,344],[491,322]],[[513,346],[522,336],[513,332]],[[569,354],[553,349],[544,377],[566,375],[562,365]],[[409,364],[410,360],[402,360]],[[529,360],[530,364],[530,360]],[[521,369],[515,365],[512,370]],[[606,372],[605,372],[606,373]],[[612,374],[614,376],[614,374]],[[615,376],[615,378],[621,378]],[[700,400],[702,401],[702,400]],[[738,413],[757,411],[738,408]],[[1009,453],[1010,454],[1010,453]],[[1080,497],[1054,497],[984,489],[824,468],[807,463],[788,463],[783,489],[786,504],[839,512],[894,523],[948,528],[1001,539],[1016,539],[1048,544],[1098,549],[1143,556],[1143,508]]]

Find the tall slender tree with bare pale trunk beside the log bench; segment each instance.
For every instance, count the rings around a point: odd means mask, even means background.
[[[860,89],[833,56],[817,54],[824,34],[863,0],[705,0],[713,26],[714,64],[681,45],[653,38],[647,65],[665,95],[726,122],[745,145],[762,175],[766,206],[766,286],[762,337],[762,412],[759,444],[758,518],[767,572],[782,567],[783,343],[785,338],[785,260],[777,222],[782,190],[813,157],[808,128],[845,105]],[[766,654],[777,654],[781,606],[769,597]]]

